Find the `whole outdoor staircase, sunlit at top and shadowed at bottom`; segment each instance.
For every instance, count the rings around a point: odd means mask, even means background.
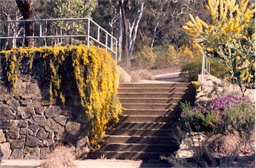
[[[181,114],[180,102],[195,102],[190,83],[120,84],[123,114],[107,129],[105,144],[90,158],[159,160],[179,149],[175,124]]]

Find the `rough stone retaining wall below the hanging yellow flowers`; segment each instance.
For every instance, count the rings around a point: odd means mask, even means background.
[[[1,62],[1,65],[3,62]],[[0,147],[3,159],[45,159],[56,145],[69,145],[76,157],[89,153],[88,123],[73,86],[66,86],[65,106],[49,102],[42,63],[21,62],[15,96],[0,67]],[[72,83],[72,82],[71,82]]]

